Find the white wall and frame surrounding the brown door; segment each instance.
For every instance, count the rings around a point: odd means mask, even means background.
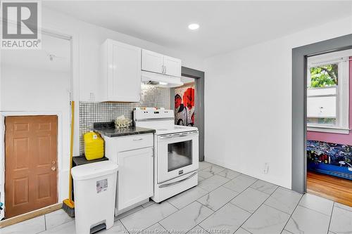
[[[1,51],[1,202],[4,202],[4,117],[11,115],[58,116],[58,200],[68,195],[70,41],[49,36],[42,39],[46,44],[41,51]],[[51,61],[47,53],[58,57]]]

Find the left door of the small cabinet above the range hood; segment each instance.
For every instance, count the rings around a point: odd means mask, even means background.
[[[142,70],[163,73],[164,56],[153,51],[142,50]]]

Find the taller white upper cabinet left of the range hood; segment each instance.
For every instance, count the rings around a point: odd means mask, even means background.
[[[101,45],[101,101],[139,102],[141,48],[107,39]]]

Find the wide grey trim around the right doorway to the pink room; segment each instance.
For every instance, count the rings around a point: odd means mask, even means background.
[[[310,56],[352,48],[352,34],[292,49],[292,190],[306,193],[306,62]]]

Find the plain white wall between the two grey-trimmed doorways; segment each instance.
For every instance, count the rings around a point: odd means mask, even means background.
[[[351,33],[352,17],[206,59],[205,159],[291,188],[291,50]]]

